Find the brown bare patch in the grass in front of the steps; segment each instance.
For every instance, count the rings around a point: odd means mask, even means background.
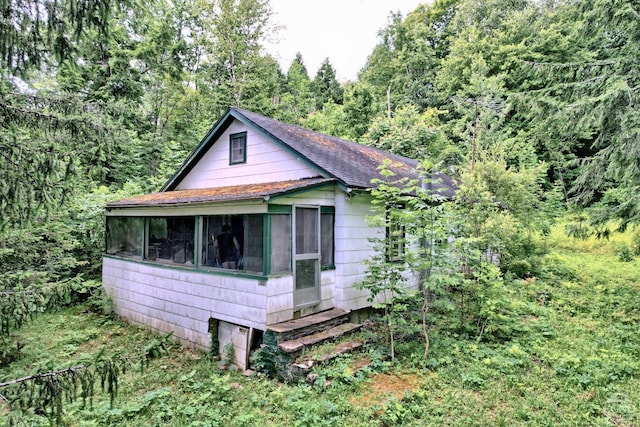
[[[372,407],[384,404],[391,396],[402,399],[406,392],[412,393],[422,385],[422,379],[415,374],[375,374],[369,384],[363,384],[361,393],[350,398],[351,404]]]

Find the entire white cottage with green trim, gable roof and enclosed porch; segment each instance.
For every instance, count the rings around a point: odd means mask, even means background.
[[[369,306],[355,284],[378,167],[417,162],[230,108],[158,193],[107,205],[103,284],[116,313],[248,356],[270,325]],[[453,182],[433,184],[445,197]]]

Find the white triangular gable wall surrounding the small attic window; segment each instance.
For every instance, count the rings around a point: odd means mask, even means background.
[[[229,135],[239,132],[247,132],[247,161],[230,165]],[[292,153],[234,120],[176,189],[289,181],[319,175],[317,170]]]

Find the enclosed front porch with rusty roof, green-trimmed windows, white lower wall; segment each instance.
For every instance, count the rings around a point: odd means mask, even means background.
[[[225,331],[226,341],[256,340],[269,324],[332,308],[336,189],[315,178],[112,202],[107,294],[125,319],[201,348]],[[232,265],[222,261],[223,230],[235,242]]]

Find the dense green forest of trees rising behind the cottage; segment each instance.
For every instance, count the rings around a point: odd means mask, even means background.
[[[567,230],[582,237],[640,219],[635,1],[436,0],[390,14],[343,84],[328,59],[313,77],[301,55],[281,70],[264,49],[278,31],[267,0],[0,8],[6,300],[99,286],[104,204],[157,191],[228,106],[459,178],[466,200],[484,202],[467,225],[512,255],[501,274],[530,277],[528,238],[566,212],[579,212]]]

